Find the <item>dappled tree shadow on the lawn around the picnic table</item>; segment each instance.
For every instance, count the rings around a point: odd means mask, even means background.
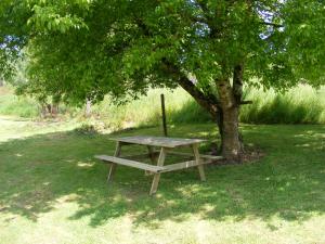
[[[203,183],[196,169],[165,174],[153,197],[147,194],[152,177],[140,170],[119,167],[114,183],[106,184],[107,166],[93,155],[114,153],[109,136],[56,132],[2,142],[0,215],[37,221],[43,213],[76,203],[72,221],[90,217],[90,226],[98,227],[128,215],[134,224],[156,228],[160,220],[183,221],[191,215],[217,221],[274,216],[303,221],[324,214],[324,126],[244,126],[243,131],[247,143],[266,151],[261,162],[208,166]],[[159,129],[121,134],[159,134]],[[214,139],[217,131],[206,124],[176,126],[170,134]],[[140,151],[145,149],[128,149]]]

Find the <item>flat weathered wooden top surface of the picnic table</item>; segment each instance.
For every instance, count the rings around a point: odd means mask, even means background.
[[[133,143],[133,144],[153,145],[153,146],[171,147],[171,149],[177,146],[183,146],[183,145],[192,145],[192,144],[206,141],[202,139],[166,138],[166,137],[150,137],[150,136],[113,138],[112,140]]]

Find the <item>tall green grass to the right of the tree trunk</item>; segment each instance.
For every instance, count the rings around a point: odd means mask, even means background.
[[[284,94],[252,89],[247,99],[253,103],[243,106],[243,123],[325,124],[325,87],[299,86]]]

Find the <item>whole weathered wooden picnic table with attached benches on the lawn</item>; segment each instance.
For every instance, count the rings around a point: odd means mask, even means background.
[[[210,164],[216,159],[221,159],[221,156],[212,156],[212,155],[200,155],[198,152],[199,143],[205,140],[202,139],[183,139],[183,138],[165,138],[165,137],[123,137],[123,138],[114,138],[112,140],[116,141],[116,150],[114,156],[108,155],[95,155],[95,158],[101,159],[104,163],[109,164],[109,172],[107,176],[107,181],[112,181],[116,166],[123,165],[133,168],[143,169],[146,171],[146,175],[154,175],[152,188],[150,194],[154,194],[157,191],[160,174],[180,170],[190,167],[197,167],[200,180],[205,181],[205,171],[204,165]],[[148,156],[152,163],[156,163],[156,165],[151,165],[129,158],[120,157],[121,146],[123,145],[145,145],[147,146],[147,154],[133,155],[132,158],[139,156]],[[192,149],[192,153],[177,152],[176,150],[179,147],[190,146]],[[155,149],[160,149],[156,151]],[[167,154],[176,154],[183,156],[193,156],[192,160],[186,160],[182,163],[164,165],[165,158]],[[130,157],[130,156],[129,156]]]

